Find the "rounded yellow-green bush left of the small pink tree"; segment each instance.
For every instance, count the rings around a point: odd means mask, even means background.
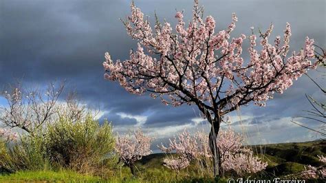
[[[90,115],[75,122],[61,118],[45,131],[45,151],[52,164],[80,173],[108,171],[116,163],[114,142],[111,125],[99,125]]]

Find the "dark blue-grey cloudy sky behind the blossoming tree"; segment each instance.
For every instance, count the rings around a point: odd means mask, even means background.
[[[67,80],[89,105],[102,109],[101,119],[113,122],[116,131],[135,127],[146,129],[157,139],[172,137],[184,128],[206,129],[195,106],[169,107],[149,96],[127,93],[118,83],[103,79],[102,62],[109,51],[113,59],[126,59],[135,41],[127,36],[120,18],[129,15],[129,0],[103,1],[0,1],[0,87],[15,79],[25,85],[43,86],[53,80]],[[239,18],[232,36],[250,34],[250,27],[265,29],[272,22],[274,33],[282,34],[285,23],[292,25],[293,50],[303,46],[305,36],[325,47],[324,0],[224,0],[199,1],[205,15],[213,15],[217,30],[230,23],[232,12]],[[135,0],[153,21],[175,25],[176,10],[190,18],[193,0]],[[309,71],[325,87],[325,70]],[[248,143],[298,142],[320,138],[290,120],[310,109],[305,94],[325,101],[316,86],[303,76],[283,95],[276,95],[266,107],[252,104],[230,114],[232,127],[248,134]],[[0,99],[0,105],[5,105]],[[296,118],[309,127],[320,124]]]

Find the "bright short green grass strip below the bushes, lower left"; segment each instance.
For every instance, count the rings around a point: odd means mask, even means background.
[[[81,175],[73,171],[19,171],[0,176],[0,182],[99,182],[100,180],[100,177]]]

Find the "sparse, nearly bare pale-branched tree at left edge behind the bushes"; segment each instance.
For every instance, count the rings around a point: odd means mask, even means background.
[[[21,85],[11,87],[1,94],[8,106],[0,107],[0,122],[6,127],[18,127],[33,133],[54,116],[63,88],[63,84],[56,88],[54,83],[50,83],[45,91],[25,89]]]

